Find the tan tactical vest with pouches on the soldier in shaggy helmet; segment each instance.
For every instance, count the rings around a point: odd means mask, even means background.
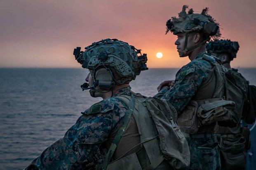
[[[216,122],[221,126],[237,125],[234,113],[235,102],[226,91],[230,88],[225,79],[225,69],[214,57],[204,54],[202,60],[209,62],[211,69],[208,79],[200,86],[195,96],[178,115],[181,131],[189,134],[214,133]]]

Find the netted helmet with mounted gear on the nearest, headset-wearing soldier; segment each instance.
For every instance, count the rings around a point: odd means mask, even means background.
[[[140,54],[138,56],[138,54]],[[86,69],[111,67],[120,77],[134,80],[143,70],[147,70],[147,54],[117,39],[103,39],[85,47],[74,49],[75,59]]]

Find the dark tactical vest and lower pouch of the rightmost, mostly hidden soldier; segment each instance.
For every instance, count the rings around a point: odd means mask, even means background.
[[[225,72],[227,99],[235,101],[237,119],[249,118],[249,83],[235,69]],[[247,117],[249,116],[249,117]],[[251,118],[251,117],[250,117]],[[215,136],[221,151],[221,166],[226,170],[241,170],[246,165],[246,150],[250,148],[249,129],[241,127],[222,127],[216,124]]]

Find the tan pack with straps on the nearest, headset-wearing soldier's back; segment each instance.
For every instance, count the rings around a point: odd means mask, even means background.
[[[141,97],[141,94],[121,95],[115,98],[121,99],[129,106],[127,112],[132,113],[131,115],[136,121],[141,135],[140,144],[146,149],[146,154],[150,159],[150,165],[146,167],[146,170],[155,169],[164,160],[167,160],[174,169],[184,169],[189,166],[190,152],[188,143],[176,124],[177,113],[173,106],[165,100],[155,97]],[[127,121],[129,122],[129,119]],[[125,123],[124,120],[125,127],[128,122]],[[124,126],[120,128],[122,133],[117,132],[102,169],[118,170],[124,168],[124,165],[126,165],[125,168],[127,170],[142,169],[138,167],[140,166],[139,164],[136,165],[136,162],[139,162],[136,153],[109,163],[124,133]]]

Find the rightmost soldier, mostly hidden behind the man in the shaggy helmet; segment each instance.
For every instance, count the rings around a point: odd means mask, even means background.
[[[242,112],[239,120],[247,124],[255,122],[255,101],[249,81],[246,80],[237,69],[231,68],[230,62],[237,56],[239,50],[237,41],[229,39],[221,39],[210,41],[207,44],[207,52],[218,57],[224,67],[228,69],[227,76],[232,77],[233,83],[242,92],[241,96],[235,93],[237,97],[236,104],[239,105]],[[246,152],[250,148],[250,132],[249,128],[242,126],[240,122],[234,128],[221,127],[216,124],[215,136],[219,140],[221,149],[221,167],[223,170],[241,170],[246,167]],[[252,144],[254,145],[254,144]]]

